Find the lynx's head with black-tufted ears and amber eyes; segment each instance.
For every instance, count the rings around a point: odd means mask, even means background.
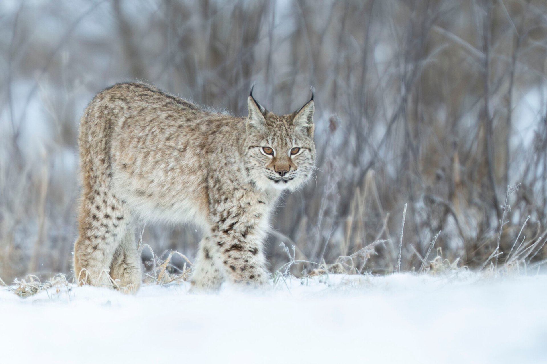
[[[300,110],[287,115],[266,110],[253,98],[252,89],[247,104],[245,164],[249,177],[263,190],[298,189],[315,166],[313,92]]]

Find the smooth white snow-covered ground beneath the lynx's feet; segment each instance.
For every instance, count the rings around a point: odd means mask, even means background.
[[[263,292],[0,289],[0,362],[546,363],[547,275],[330,275]]]

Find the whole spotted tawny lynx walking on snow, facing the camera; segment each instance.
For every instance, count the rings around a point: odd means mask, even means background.
[[[79,284],[138,289],[137,219],[201,226],[195,289],[266,282],[272,209],[315,163],[314,104],[312,95],[295,113],[275,115],[252,90],[247,103],[248,117],[236,118],[140,83],[95,96],[80,121]]]

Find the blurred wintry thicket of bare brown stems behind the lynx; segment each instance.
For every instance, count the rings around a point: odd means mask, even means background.
[[[79,118],[129,80],[235,115],[254,81],[279,114],[315,86],[318,168],[277,210],[272,271],[389,273],[399,249],[403,271],[536,267],[546,14],[543,0],[2,0],[0,278],[70,274]],[[137,233],[194,259],[192,226]]]

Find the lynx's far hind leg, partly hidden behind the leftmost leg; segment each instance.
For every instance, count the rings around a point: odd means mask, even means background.
[[[114,286],[126,292],[135,293],[141,286],[141,260],[135,242],[135,231],[127,226],[118,249],[110,264],[110,276]]]

